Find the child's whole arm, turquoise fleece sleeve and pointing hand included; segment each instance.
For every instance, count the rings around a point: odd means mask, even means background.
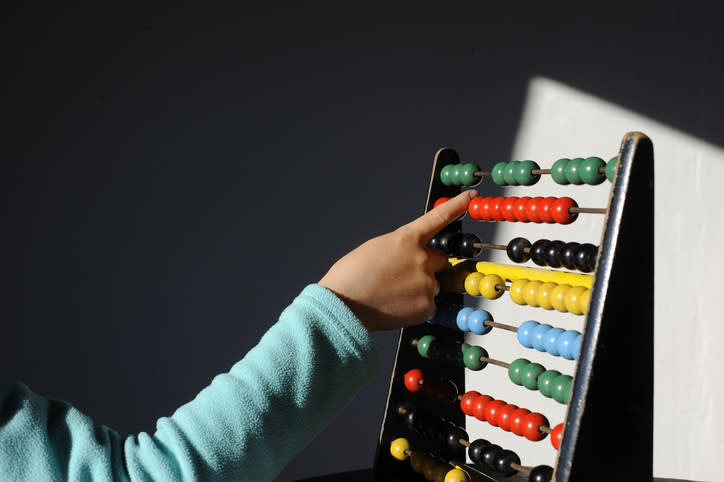
[[[345,256],[153,435],[122,439],[23,385],[0,389],[0,479],[272,480],[374,372],[365,328],[398,328],[432,313],[434,272],[447,261],[425,243],[468,199]]]

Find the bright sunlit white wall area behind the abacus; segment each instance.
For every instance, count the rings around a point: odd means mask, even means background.
[[[715,305],[721,297],[716,276],[724,271],[724,257],[716,254],[724,242],[724,190],[718,186],[724,179],[724,149],[561,83],[536,78],[529,84],[510,159],[476,161],[464,152],[459,154],[462,162],[478,162],[483,170],[501,160],[532,159],[541,168],[561,157],[599,156],[608,161],[630,131],[643,132],[654,144],[654,476],[717,480],[721,470],[715,464],[724,460],[724,377],[718,373],[724,365],[724,350],[715,347],[724,339],[721,310]],[[487,179],[477,188],[485,196],[490,186]],[[543,176],[535,186],[505,188],[503,195],[570,196],[581,207],[605,207],[609,190],[609,182],[593,188],[559,186]],[[603,223],[603,216],[593,214],[581,214],[571,226],[500,223],[491,242],[507,244],[523,236],[531,242],[546,238],[598,245]],[[505,252],[486,253],[486,257],[510,263]],[[520,307],[507,295],[476,302],[503,323],[517,326],[532,319],[581,330],[582,317]],[[630,303],[635,302],[636,287],[632,286]],[[626,325],[635,322],[621,320],[621,336],[626,336]],[[522,348],[514,337],[493,330],[483,337],[468,335],[466,341],[485,346],[492,358],[525,357],[547,369],[574,373],[574,362]],[[503,347],[510,352],[501,351]],[[491,396],[541,411],[551,427],[564,420],[563,405],[512,384],[506,370],[489,366],[481,372],[466,371],[466,389],[487,393],[486,387],[493,386],[501,391]],[[616,417],[614,407],[611,417]],[[495,440],[518,451],[525,465],[552,465],[554,449],[548,440],[538,442],[529,454],[531,443],[525,439],[469,420],[471,440]],[[625,433],[622,437],[625,445]]]

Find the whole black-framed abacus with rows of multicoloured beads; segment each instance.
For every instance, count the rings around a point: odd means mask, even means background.
[[[542,178],[565,195],[534,194]],[[435,317],[401,331],[375,480],[650,480],[651,141],[628,133],[608,162],[490,171],[441,149],[426,210],[474,185],[466,215],[430,240],[451,267]],[[587,189],[600,205],[579,207]]]

